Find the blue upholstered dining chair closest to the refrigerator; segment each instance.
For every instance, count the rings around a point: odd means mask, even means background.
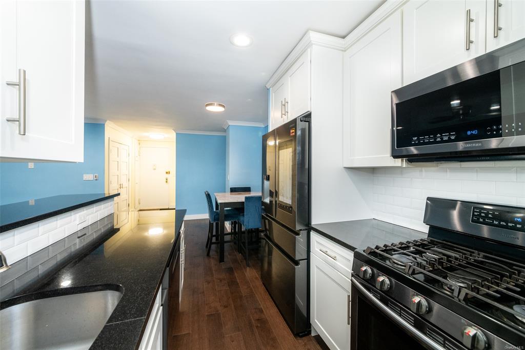
[[[244,213],[239,215],[238,222],[241,227],[237,236],[239,252],[244,252],[246,266],[250,266],[248,251],[259,246],[259,229],[262,227],[262,197],[260,195],[247,195],[244,198]],[[244,230],[243,230],[244,229]],[[243,242],[244,233],[244,242]],[[249,238],[249,240],[248,240]],[[249,245],[248,241],[252,243]],[[243,253],[241,252],[241,253]]]

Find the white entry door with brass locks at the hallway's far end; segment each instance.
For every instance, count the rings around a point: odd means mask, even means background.
[[[140,148],[140,208],[167,209],[170,207],[170,149],[167,147]]]

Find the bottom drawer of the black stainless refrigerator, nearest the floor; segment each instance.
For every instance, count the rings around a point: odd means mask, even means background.
[[[308,331],[307,260],[292,262],[263,235],[261,280],[293,334]]]

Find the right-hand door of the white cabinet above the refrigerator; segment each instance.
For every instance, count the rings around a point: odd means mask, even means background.
[[[310,110],[310,49],[299,57],[287,72],[288,97],[285,103],[286,120]]]

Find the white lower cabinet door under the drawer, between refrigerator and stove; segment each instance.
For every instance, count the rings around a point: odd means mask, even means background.
[[[350,348],[350,280],[310,253],[311,323],[330,349]]]

